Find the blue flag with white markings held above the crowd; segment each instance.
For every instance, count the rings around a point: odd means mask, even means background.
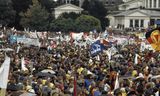
[[[105,49],[104,45],[100,43],[100,40],[94,42],[91,45],[91,49],[90,49],[90,53],[91,56],[96,56],[98,55],[100,52],[102,52]]]

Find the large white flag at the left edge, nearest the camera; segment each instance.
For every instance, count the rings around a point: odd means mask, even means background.
[[[6,89],[8,83],[8,74],[10,68],[10,58],[5,57],[5,61],[0,67],[0,88]]]

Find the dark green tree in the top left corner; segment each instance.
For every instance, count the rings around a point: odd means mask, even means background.
[[[2,26],[11,25],[15,21],[15,14],[11,0],[0,0],[0,24]]]

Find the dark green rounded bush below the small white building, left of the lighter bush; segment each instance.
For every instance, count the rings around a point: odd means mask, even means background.
[[[50,30],[70,32],[75,30],[75,21],[71,18],[58,18],[50,24]]]

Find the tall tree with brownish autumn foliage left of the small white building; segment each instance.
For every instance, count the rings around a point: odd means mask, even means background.
[[[32,0],[33,5],[25,13],[20,13],[22,17],[20,24],[29,27],[31,30],[43,31],[49,26],[49,13],[42,8],[38,0]]]

